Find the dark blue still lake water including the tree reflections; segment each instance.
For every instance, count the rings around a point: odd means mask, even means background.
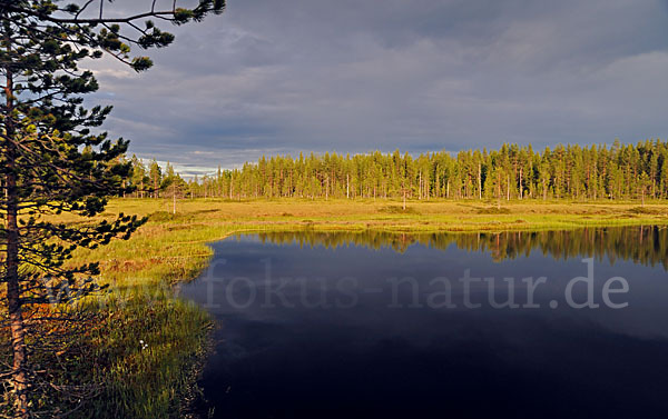
[[[215,418],[668,417],[666,229],[213,246]]]

